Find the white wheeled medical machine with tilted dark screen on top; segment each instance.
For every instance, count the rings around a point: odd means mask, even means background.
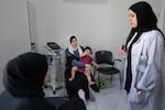
[[[56,89],[64,88],[64,72],[63,72],[63,50],[58,44],[55,42],[47,42],[46,46],[46,57],[48,63],[48,69],[51,72],[50,74],[50,82],[47,86],[51,86],[53,88],[53,94],[56,94]],[[57,76],[61,75],[61,78],[57,78]],[[57,82],[57,80],[61,81]]]

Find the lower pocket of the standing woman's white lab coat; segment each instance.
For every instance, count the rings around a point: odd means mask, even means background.
[[[129,101],[132,103],[141,103],[145,98],[145,91],[136,91],[135,88],[129,95]]]

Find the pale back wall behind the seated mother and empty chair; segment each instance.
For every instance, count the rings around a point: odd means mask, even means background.
[[[44,53],[47,41],[67,47],[70,35],[81,45],[110,50],[118,47],[129,34],[128,8],[140,0],[33,0],[36,6],[38,50]],[[161,0],[147,0],[160,15]],[[158,16],[160,19],[160,16]],[[117,56],[118,57],[118,56]]]

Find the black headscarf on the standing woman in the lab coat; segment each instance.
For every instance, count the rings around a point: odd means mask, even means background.
[[[138,28],[131,30],[127,40],[127,45],[135,32],[142,33],[157,29],[157,18],[153,12],[152,7],[147,2],[140,1],[138,3],[134,3],[129,8],[129,10],[132,10],[136,13]]]

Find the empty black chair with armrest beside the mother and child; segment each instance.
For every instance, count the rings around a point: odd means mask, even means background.
[[[97,64],[101,65],[101,67],[96,69],[98,73],[98,85],[100,82],[100,74],[111,75],[111,81],[112,75],[119,74],[120,89],[121,89],[122,88],[121,73],[118,68],[114,67],[114,63],[121,62],[121,59],[113,59],[113,54],[110,51],[98,51],[96,52],[96,62]]]

